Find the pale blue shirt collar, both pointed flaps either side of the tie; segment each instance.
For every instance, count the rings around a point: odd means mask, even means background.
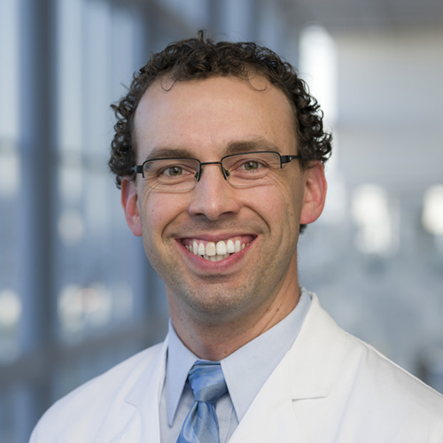
[[[238,421],[245,416],[261,386],[291,348],[310,304],[311,298],[303,289],[297,306],[280,323],[221,361]],[[169,320],[166,395],[167,422],[170,426],[174,424],[188,373],[197,360],[198,357],[178,338]]]

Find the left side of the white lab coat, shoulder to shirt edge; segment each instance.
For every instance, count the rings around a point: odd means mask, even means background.
[[[35,426],[30,443],[131,441],[131,423],[136,432],[141,429],[136,405],[144,401],[142,395],[158,405],[166,348],[167,340],[122,361],[58,400]],[[158,423],[158,417],[152,416],[152,420]]]

